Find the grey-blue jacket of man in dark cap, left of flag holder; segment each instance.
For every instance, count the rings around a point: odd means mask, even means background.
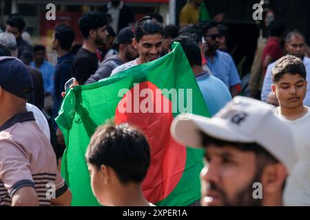
[[[118,57],[118,55],[111,56],[106,61],[103,61],[97,71],[88,78],[84,85],[90,83],[96,83],[103,78],[107,78],[111,75],[112,70],[122,65],[124,62]]]

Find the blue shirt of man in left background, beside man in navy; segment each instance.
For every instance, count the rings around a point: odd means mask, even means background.
[[[30,66],[37,68],[34,61],[30,63]],[[38,68],[37,68],[38,69]],[[54,96],[54,72],[55,69],[48,61],[44,61],[39,67],[39,70],[43,76],[44,90]]]

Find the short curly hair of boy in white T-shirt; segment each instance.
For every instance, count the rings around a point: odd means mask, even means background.
[[[276,61],[276,65],[272,68],[271,73],[273,83],[277,83],[284,74],[298,74],[304,80],[307,78],[306,68],[302,60],[291,55],[283,56]]]

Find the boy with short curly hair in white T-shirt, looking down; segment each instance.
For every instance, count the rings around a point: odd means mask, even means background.
[[[306,69],[296,56],[284,56],[272,69],[273,85],[280,106],[274,114],[296,132],[298,164],[287,181],[285,205],[310,206],[310,111],[303,100],[307,92]]]

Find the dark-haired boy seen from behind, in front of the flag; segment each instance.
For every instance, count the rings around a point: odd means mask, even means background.
[[[87,148],[92,192],[104,206],[154,206],[142,192],[150,164],[146,137],[128,124],[99,126]]]

